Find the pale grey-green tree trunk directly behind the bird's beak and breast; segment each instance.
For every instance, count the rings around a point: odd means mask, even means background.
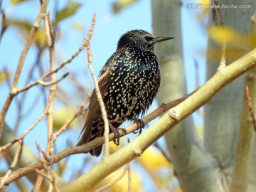
[[[151,2],[154,35],[174,37],[173,41],[156,46],[161,61],[161,87],[156,98],[161,105],[186,95],[181,1]],[[168,132],[165,139],[182,191],[223,191],[216,162],[201,145],[191,117]]]

